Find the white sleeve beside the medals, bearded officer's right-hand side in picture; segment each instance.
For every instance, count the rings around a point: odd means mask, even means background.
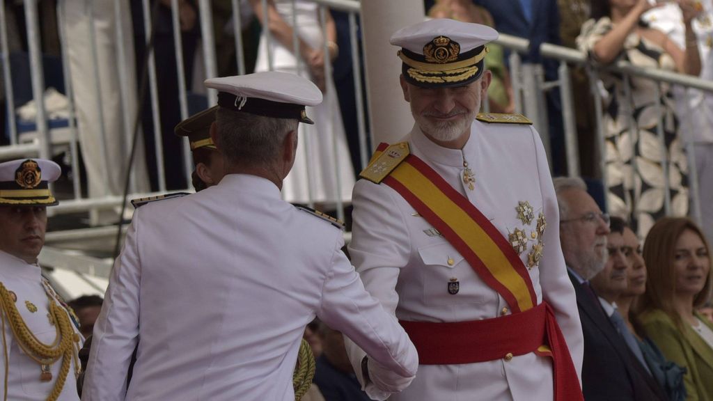
[[[543,239],[544,253],[540,262],[540,285],[543,300],[553,308],[557,323],[565,336],[581,385],[584,335],[577,309],[577,298],[567,275],[565,258],[560,245],[560,212],[552,176],[550,176],[550,167],[540,135],[534,129],[533,139],[537,151],[540,192],[543,194],[543,208],[547,218]]]

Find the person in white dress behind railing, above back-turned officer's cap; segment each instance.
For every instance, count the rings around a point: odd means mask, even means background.
[[[250,0],[250,4],[262,24],[265,21],[262,1]],[[312,80],[324,93],[321,104],[307,108],[307,113],[314,116],[315,124],[299,128],[302,139],[297,144],[297,154],[300,156],[284,181],[282,194],[288,202],[312,201],[319,203],[320,208],[334,208],[338,198],[344,202],[352,199],[354,167],[349,156],[337,93],[327,89],[334,88],[334,83],[332,76],[325,75],[324,65],[337,57],[339,47],[334,19],[329,11],[325,14],[326,31],[323,32],[316,3],[305,0],[268,0],[269,26],[262,27],[255,71],[274,69],[296,73]],[[291,25],[293,18],[297,19],[296,30]],[[266,29],[270,30],[270,43],[267,43],[264,33]],[[294,54],[294,35],[297,35],[299,54]],[[324,53],[325,41],[328,54]],[[272,54],[272,66],[268,52]]]

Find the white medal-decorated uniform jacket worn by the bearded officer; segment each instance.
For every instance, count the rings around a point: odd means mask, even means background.
[[[437,146],[418,126],[402,141],[408,141],[411,153],[467,196],[506,238],[515,228],[525,230],[530,238],[538,214],[544,213],[544,254],[539,266],[528,271],[537,303],[547,300],[552,305],[581,377],[582,328],[560,248],[557,200],[538,133],[525,125],[474,121],[462,153]],[[463,157],[475,174],[474,191],[463,186]],[[518,201],[532,205],[535,218],[530,224],[518,219]],[[478,277],[451,244],[434,235],[433,226],[414,215],[414,208],[394,189],[360,180],[354,187],[353,203],[352,263],[366,290],[397,318],[461,322],[510,313],[511,305]],[[530,238],[520,254],[525,265],[536,242]],[[458,280],[455,295],[448,292],[451,278]],[[364,353],[349,341],[347,350],[364,383],[357,369]],[[515,356],[509,362],[421,365],[411,385],[390,400],[552,400],[551,366],[549,357],[534,353]],[[366,391],[377,400],[386,397],[373,385],[367,384]]]

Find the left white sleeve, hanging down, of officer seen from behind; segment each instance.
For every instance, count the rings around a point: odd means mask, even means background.
[[[141,263],[140,210],[136,210],[116,259],[101,313],[94,325],[83,401],[124,400],[131,355],[138,342]]]

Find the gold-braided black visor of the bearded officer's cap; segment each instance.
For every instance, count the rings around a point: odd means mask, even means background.
[[[431,64],[416,61],[406,56],[403,51],[399,51],[399,58],[404,64],[411,67],[406,70],[409,76],[419,82],[445,83],[465,81],[478,73],[476,66],[488,54],[488,47],[483,47],[483,51],[470,59],[456,61],[448,64]]]

